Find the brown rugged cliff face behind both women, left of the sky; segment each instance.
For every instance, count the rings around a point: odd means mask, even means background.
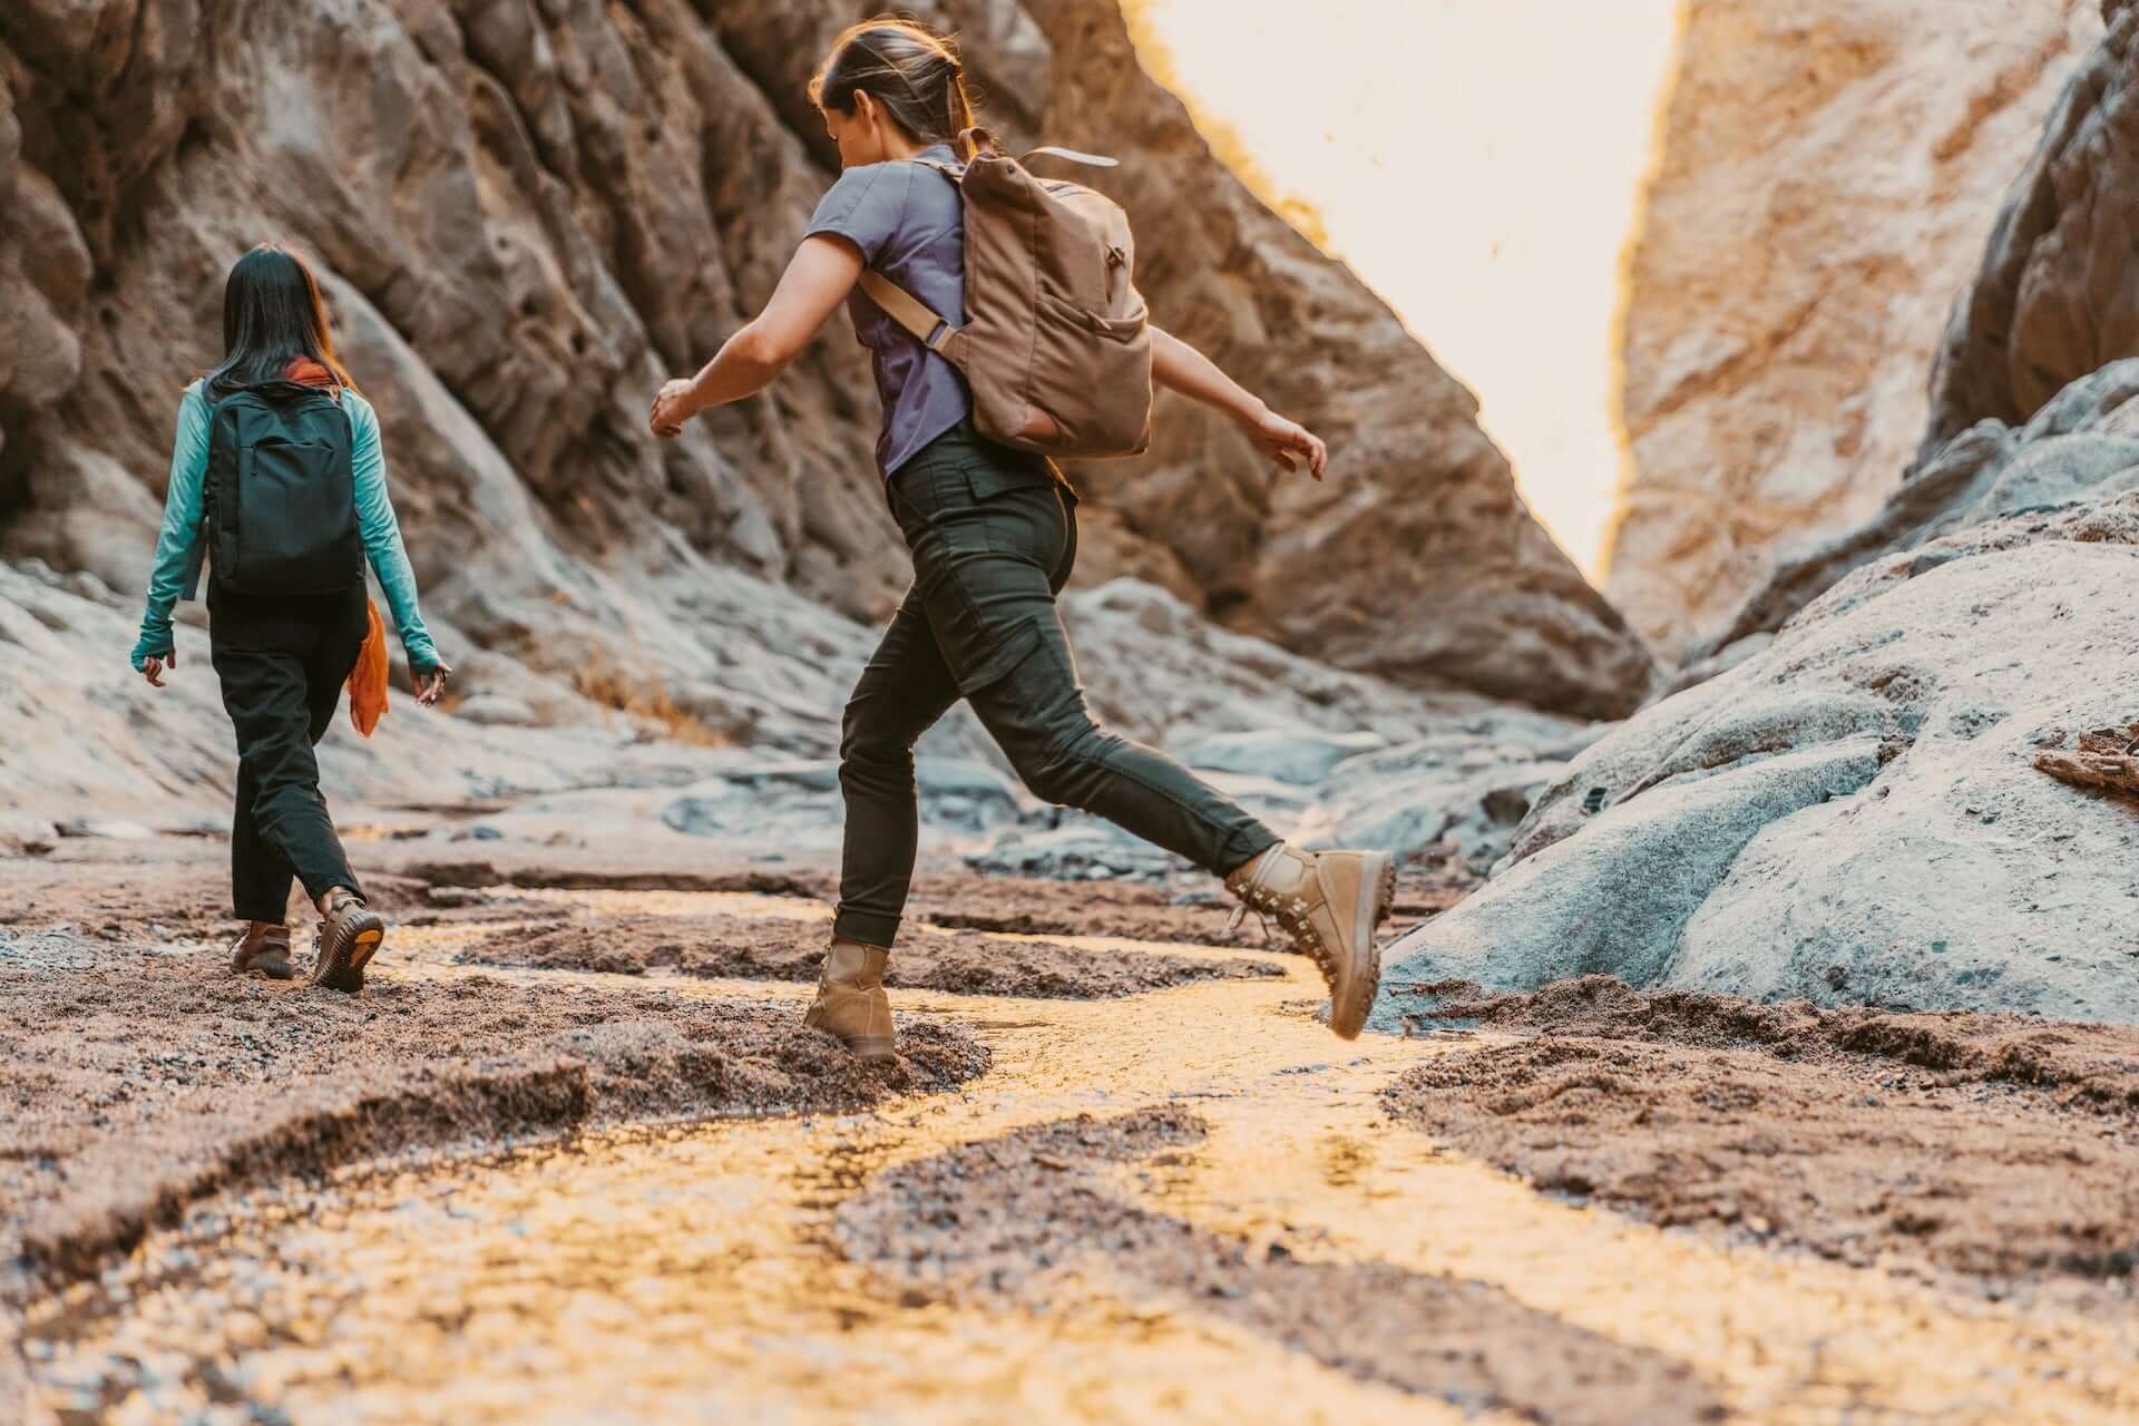
[[[858,9],[0,9],[0,552],[118,601],[143,586],[222,272],[282,235],[325,269],[456,648],[565,682],[622,665],[738,738],[791,718],[813,676],[734,669],[794,631],[717,618],[751,582],[862,622],[903,588],[864,353],[834,321],[676,445],[644,404],[770,293],[832,177],[802,81]],[[1161,321],[1333,440],[1339,481],[1279,483],[1168,402],[1149,460],[1080,472],[1091,577],[1155,577],[1352,669],[1583,714],[1638,699],[1647,652],[1523,509],[1469,396],[1213,162],[1112,4],[922,11],[965,32],[1010,135],[1125,158]]]

